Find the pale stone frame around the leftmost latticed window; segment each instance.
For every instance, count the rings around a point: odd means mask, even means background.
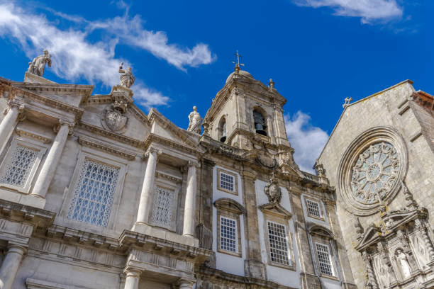
[[[1,162],[0,178],[1,178],[1,176],[3,176],[6,169],[8,168],[9,163],[11,162],[12,154],[13,154],[13,152],[15,152],[16,147],[18,147],[18,145],[39,151],[38,155],[36,156],[35,163],[33,164],[33,167],[30,169],[30,173],[28,174],[27,181],[23,187],[13,186],[9,183],[0,183],[0,188],[1,187],[10,188],[10,189],[16,190],[20,193],[29,193],[30,188],[31,188],[32,183],[33,183],[33,178],[35,177],[36,171],[38,170],[38,167],[40,166],[40,162],[42,161],[43,156],[44,156],[45,152],[47,151],[48,145],[44,145],[40,142],[35,142],[33,140],[29,140],[29,139],[26,139],[23,137],[14,137],[12,142],[11,142],[11,145],[9,146],[9,149],[6,152],[6,155],[3,159],[3,162]]]

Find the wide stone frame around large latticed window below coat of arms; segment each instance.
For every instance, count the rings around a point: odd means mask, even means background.
[[[108,166],[116,166],[119,168],[118,182],[116,183],[116,188],[113,193],[113,202],[111,203],[111,210],[109,216],[109,222],[107,227],[101,227],[99,225],[94,225],[87,222],[79,222],[77,220],[72,220],[67,217],[69,212],[69,206],[72,205],[72,199],[74,198],[75,189],[78,186],[80,171],[84,165],[84,161],[90,159],[93,162],[100,162]],[[106,232],[109,229],[114,229],[116,225],[116,220],[118,218],[119,204],[123,193],[123,182],[125,181],[126,172],[128,171],[128,161],[120,157],[116,157],[113,154],[106,154],[100,150],[93,149],[91,147],[82,147],[77,157],[77,164],[75,165],[74,174],[69,183],[69,186],[65,188],[65,196],[62,205],[62,210],[60,211],[59,217],[63,219],[63,222],[67,225],[72,225],[77,229],[91,229],[94,232]]]

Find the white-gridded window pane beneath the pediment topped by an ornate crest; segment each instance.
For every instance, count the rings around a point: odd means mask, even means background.
[[[286,227],[275,222],[268,222],[269,253],[271,261],[291,265],[289,260]]]

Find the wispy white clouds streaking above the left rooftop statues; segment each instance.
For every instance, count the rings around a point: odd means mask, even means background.
[[[52,71],[69,81],[84,78],[90,83],[101,82],[106,86],[118,84],[119,63],[128,64],[127,60],[115,55],[116,45],[120,42],[148,50],[182,70],[186,66],[209,64],[215,58],[204,44],[192,49],[167,44],[164,32],[143,29],[140,17],[128,18],[128,13],[99,22],[64,13],[53,14],[70,21],[74,27],[60,29],[45,16],[0,1],[0,37],[16,42],[29,60],[46,48],[52,55]],[[95,29],[101,30],[101,40],[91,42],[89,34]],[[132,89],[135,100],[146,107],[165,105],[169,101],[167,96],[148,88],[140,80],[136,80]]]

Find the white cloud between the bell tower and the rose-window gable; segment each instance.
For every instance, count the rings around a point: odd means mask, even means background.
[[[292,117],[285,115],[288,140],[294,147],[294,160],[303,171],[313,172],[313,164],[321,153],[328,134],[310,123],[311,117],[298,111]]]

